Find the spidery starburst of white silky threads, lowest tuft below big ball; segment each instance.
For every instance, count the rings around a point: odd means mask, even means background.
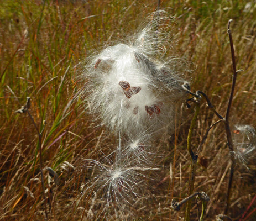
[[[117,148],[119,149],[119,148]],[[157,170],[156,168],[144,167],[139,164],[135,157],[121,156],[117,154],[112,162],[105,157],[102,162],[88,159],[82,162],[83,173],[86,174],[86,191],[81,197],[100,199],[102,204],[114,210],[126,207],[126,213],[130,212],[129,207],[135,208],[145,188],[147,171]],[[93,194],[92,194],[93,193]]]

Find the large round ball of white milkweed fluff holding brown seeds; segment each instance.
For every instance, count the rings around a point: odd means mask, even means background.
[[[163,13],[163,12],[158,12]],[[173,120],[175,103],[184,98],[182,59],[167,57],[170,18],[151,15],[147,25],[126,43],[108,46],[90,57],[82,77],[93,113],[111,130],[158,130]],[[184,68],[185,67],[185,68]]]

